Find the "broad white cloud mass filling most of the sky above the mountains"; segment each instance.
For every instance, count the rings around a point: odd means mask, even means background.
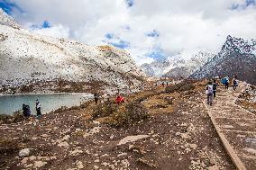
[[[134,0],[128,8],[124,0],[12,0],[25,13],[14,11],[23,24],[41,24],[50,29],[37,32],[69,37],[88,44],[104,44],[113,33],[130,42],[127,49],[136,62],[151,62],[145,54],[155,47],[170,55],[206,49],[217,52],[227,35],[255,39],[256,8],[230,10],[245,0]],[[130,29],[126,27],[129,26]],[[156,30],[159,37],[148,37]],[[116,41],[115,41],[116,42]]]

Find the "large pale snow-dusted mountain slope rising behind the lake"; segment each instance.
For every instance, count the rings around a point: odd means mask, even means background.
[[[59,79],[87,82],[87,85],[101,82],[102,85],[115,87],[141,84],[142,71],[123,49],[88,46],[75,40],[34,34],[23,30],[3,11],[0,21],[2,86],[21,86]]]

